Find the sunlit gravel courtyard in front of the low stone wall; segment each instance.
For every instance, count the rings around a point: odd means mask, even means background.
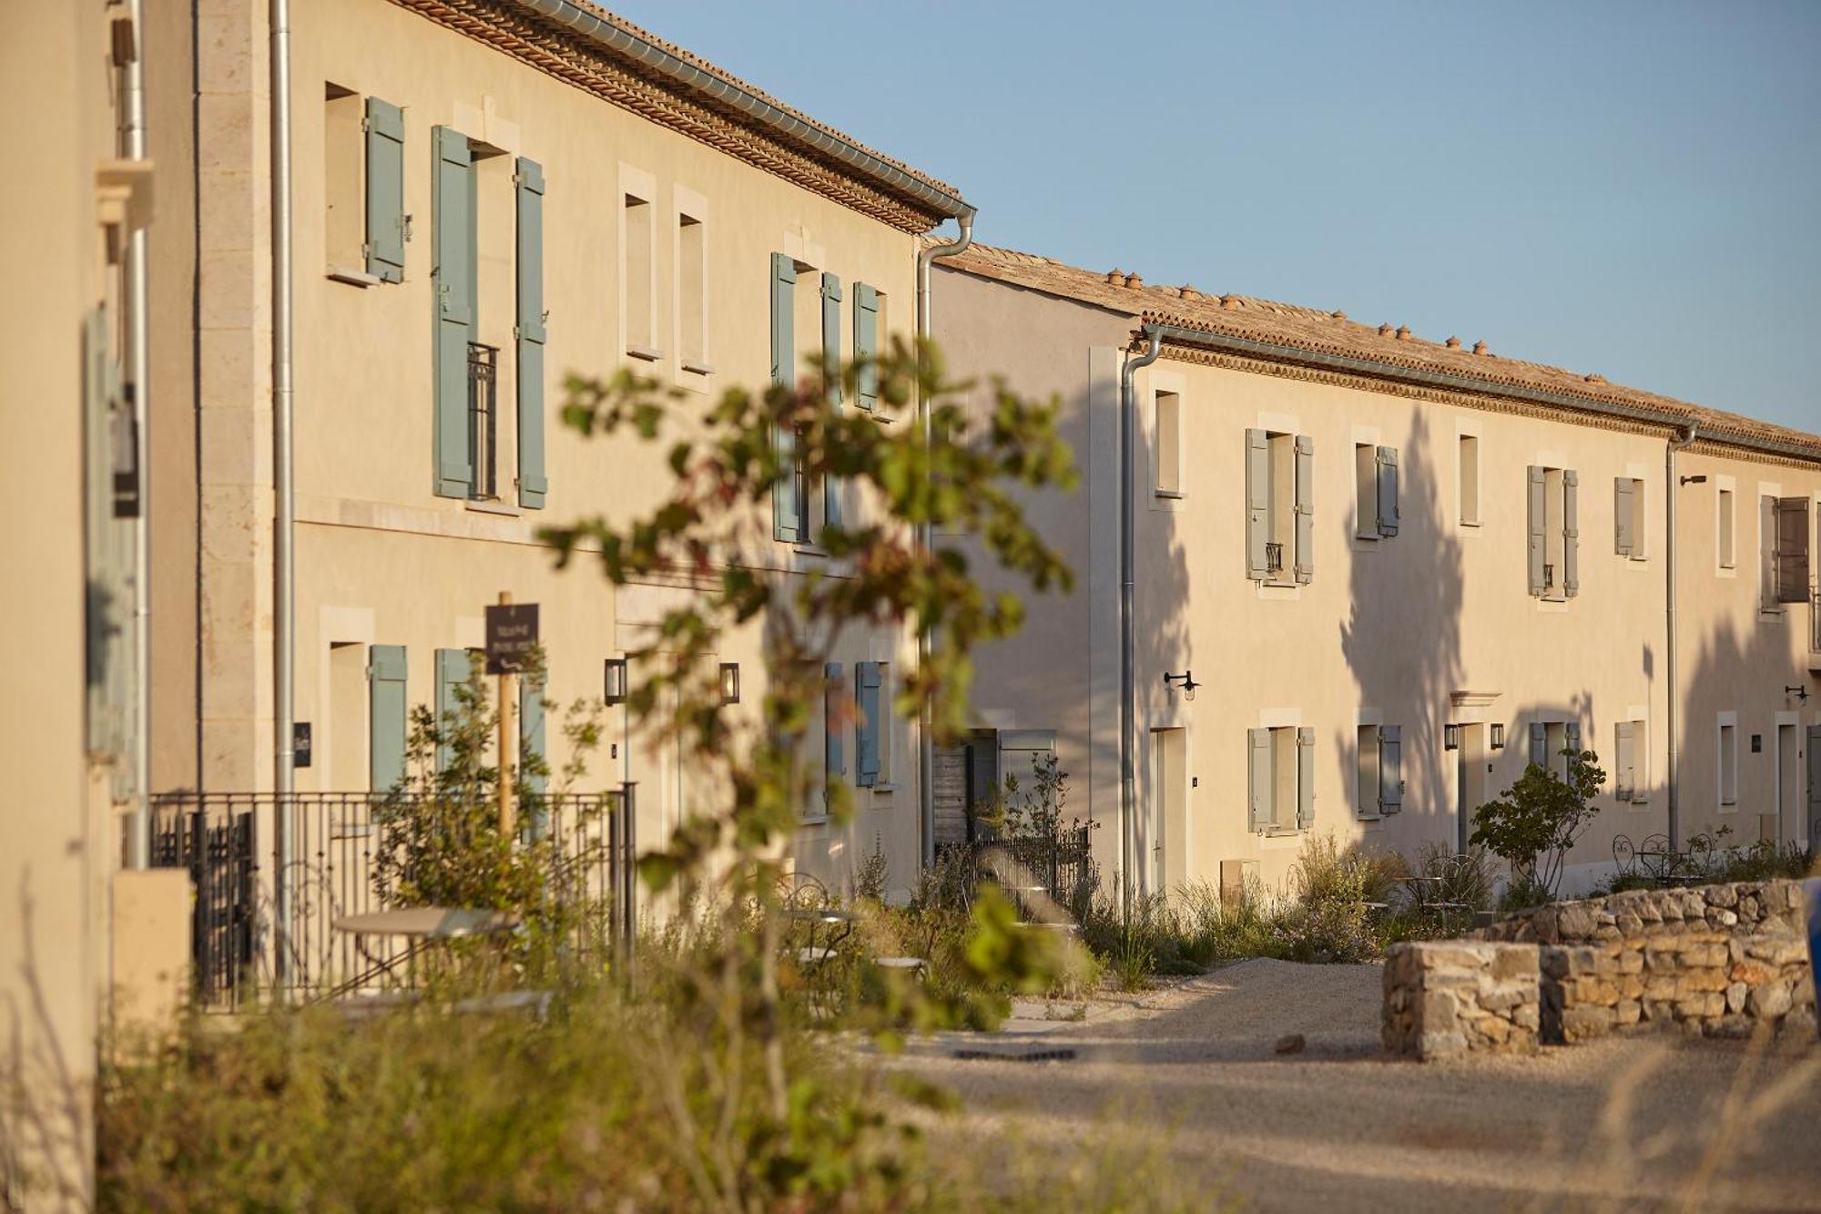
[[[1138,997],[1020,1004],[914,1043],[941,1134],[1058,1157],[1109,1134],[1256,1210],[1821,1210],[1821,1050],[1606,1039],[1526,1059],[1378,1054],[1378,966],[1247,961]],[[1277,1054],[1302,1034],[1298,1054]],[[1003,1054],[1007,1057],[956,1057]],[[1073,1052],[1060,1061],[1020,1055]]]

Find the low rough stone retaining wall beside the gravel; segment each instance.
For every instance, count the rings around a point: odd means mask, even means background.
[[[1411,1057],[1664,1028],[1745,1037],[1761,1024],[1816,1032],[1794,880],[1628,890],[1386,953],[1384,1044]]]

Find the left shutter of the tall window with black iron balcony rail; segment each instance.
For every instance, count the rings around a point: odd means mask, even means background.
[[[433,129],[432,248],[435,266],[435,492],[466,498],[473,487],[468,447],[468,341],[473,330],[473,159],[468,137]]]

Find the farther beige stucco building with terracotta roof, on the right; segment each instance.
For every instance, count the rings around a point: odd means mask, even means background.
[[[1459,848],[1475,806],[1577,738],[1612,778],[1570,886],[1617,835],[1670,833],[1672,736],[1679,840],[1821,835],[1821,437],[1342,314],[985,246],[938,266],[951,368],[1056,394],[1083,465],[1080,494],[1031,503],[1083,591],[983,658],[974,769],[1054,744],[1105,871],[1273,884],[1329,829]],[[1690,434],[1672,660],[1664,478]]]

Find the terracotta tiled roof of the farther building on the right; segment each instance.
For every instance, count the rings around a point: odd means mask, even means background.
[[[1304,308],[1298,304],[1256,299],[1253,295],[1206,295],[1184,292],[1178,286],[1125,286],[1113,275],[1069,266],[1036,253],[974,244],[965,253],[945,257],[940,264],[987,279],[1074,299],[1133,317],[1134,321],[1176,324],[1206,334],[1247,337],[1253,341],[1291,346],[1313,354],[1371,359],[1409,370],[1439,372],[1484,383],[1490,390],[1501,386],[1531,388],[1566,397],[1581,397],[1599,405],[1648,408],[1672,417],[1699,423],[1706,439],[1772,441],[1801,448],[1805,458],[1821,461],[1821,436],[1805,434],[1768,421],[1677,401],[1641,388],[1613,385],[1604,376],[1590,376],[1526,363],[1484,352],[1484,343],[1471,350],[1460,343],[1417,337],[1408,326],[1360,324],[1344,312]],[[1131,275],[1122,275],[1131,281]]]

